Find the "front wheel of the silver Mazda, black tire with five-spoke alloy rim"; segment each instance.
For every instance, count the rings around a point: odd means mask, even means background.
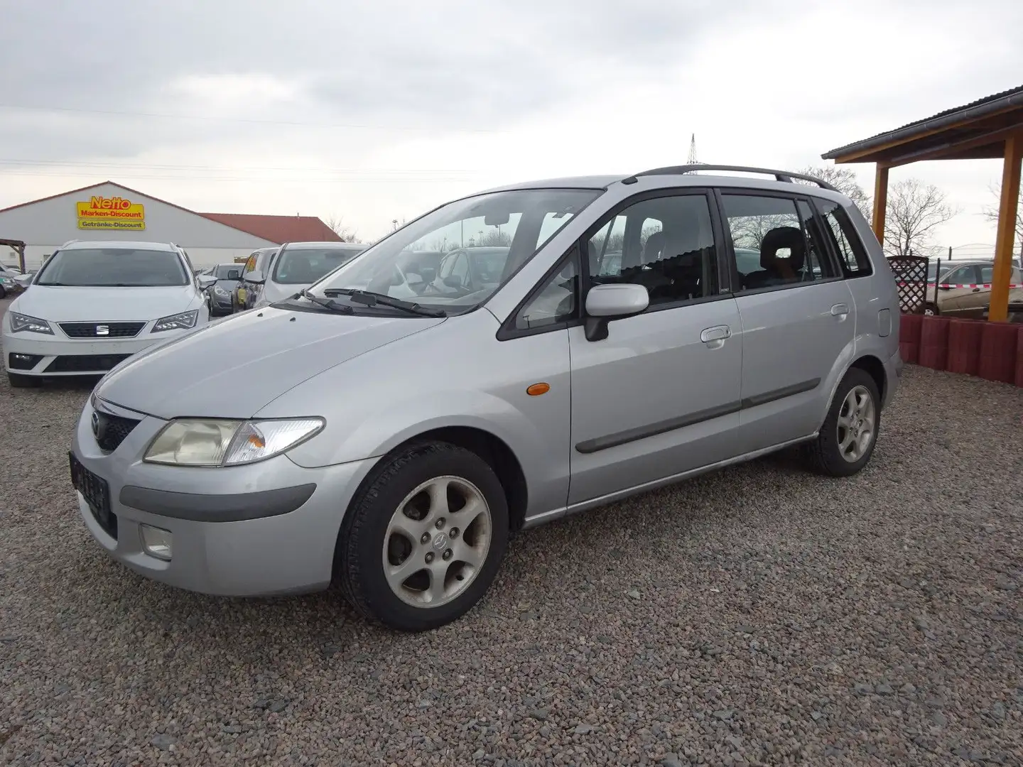
[[[439,628],[486,593],[507,546],[500,481],[444,442],[381,461],[345,515],[336,572],[363,616],[401,631]]]

